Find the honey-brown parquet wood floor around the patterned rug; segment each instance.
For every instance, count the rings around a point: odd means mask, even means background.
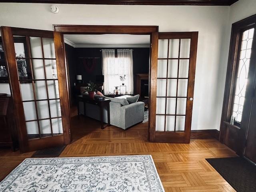
[[[236,156],[217,140],[191,140],[190,144],[150,143],[148,123],[122,130],[90,118],[72,118],[72,144],[60,157],[151,154],[166,192],[235,192],[205,158]],[[0,149],[0,180],[34,152],[20,154]]]

